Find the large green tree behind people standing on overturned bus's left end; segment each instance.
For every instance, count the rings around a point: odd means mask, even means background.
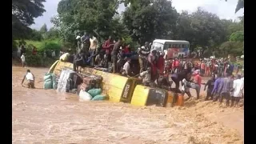
[[[94,30],[107,38],[111,22],[117,14],[118,0],[62,0],[58,3],[58,16],[52,19],[60,36],[66,42],[74,43],[75,35]]]

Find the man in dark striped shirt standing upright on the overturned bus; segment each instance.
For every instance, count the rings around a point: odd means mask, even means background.
[[[144,71],[146,62],[147,62],[147,56],[150,54],[150,46],[149,42],[145,42],[145,46],[142,46],[141,48],[138,49],[138,62],[139,62],[139,67],[140,70],[139,72],[142,73]]]

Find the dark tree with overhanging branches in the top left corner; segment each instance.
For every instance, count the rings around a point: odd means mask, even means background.
[[[46,11],[42,2],[46,0],[12,0],[13,39],[26,38],[32,32],[29,26],[34,24],[34,18]]]

